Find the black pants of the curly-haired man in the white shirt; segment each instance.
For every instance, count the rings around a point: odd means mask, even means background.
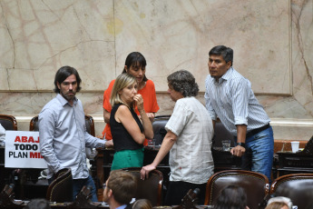
[[[181,204],[182,198],[188,193],[190,189],[194,190],[196,188],[200,189],[200,194],[198,195],[198,204],[204,204],[205,198],[205,184],[191,184],[188,182],[169,182],[169,188],[165,197],[165,205],[178,205]]]

